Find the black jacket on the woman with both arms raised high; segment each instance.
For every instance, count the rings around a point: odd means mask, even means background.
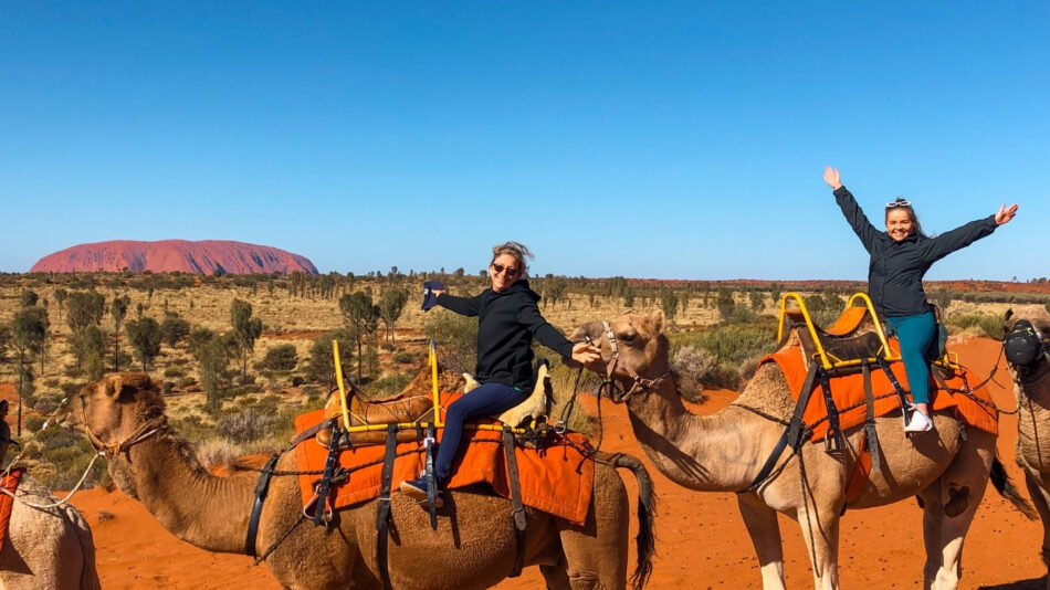
[[[868,221],[864,212],[846,187],[834,190],[842,214],[871,254],[868,266],[868,294],[875,310],[884,317],[925,314],[930,310],[923,291],[923,275],[930,266],[952,252],[966,247],[976,240],[991,235],[996,229],[995,215],[970,221],[936,238],[910,235],[894,241]]]

